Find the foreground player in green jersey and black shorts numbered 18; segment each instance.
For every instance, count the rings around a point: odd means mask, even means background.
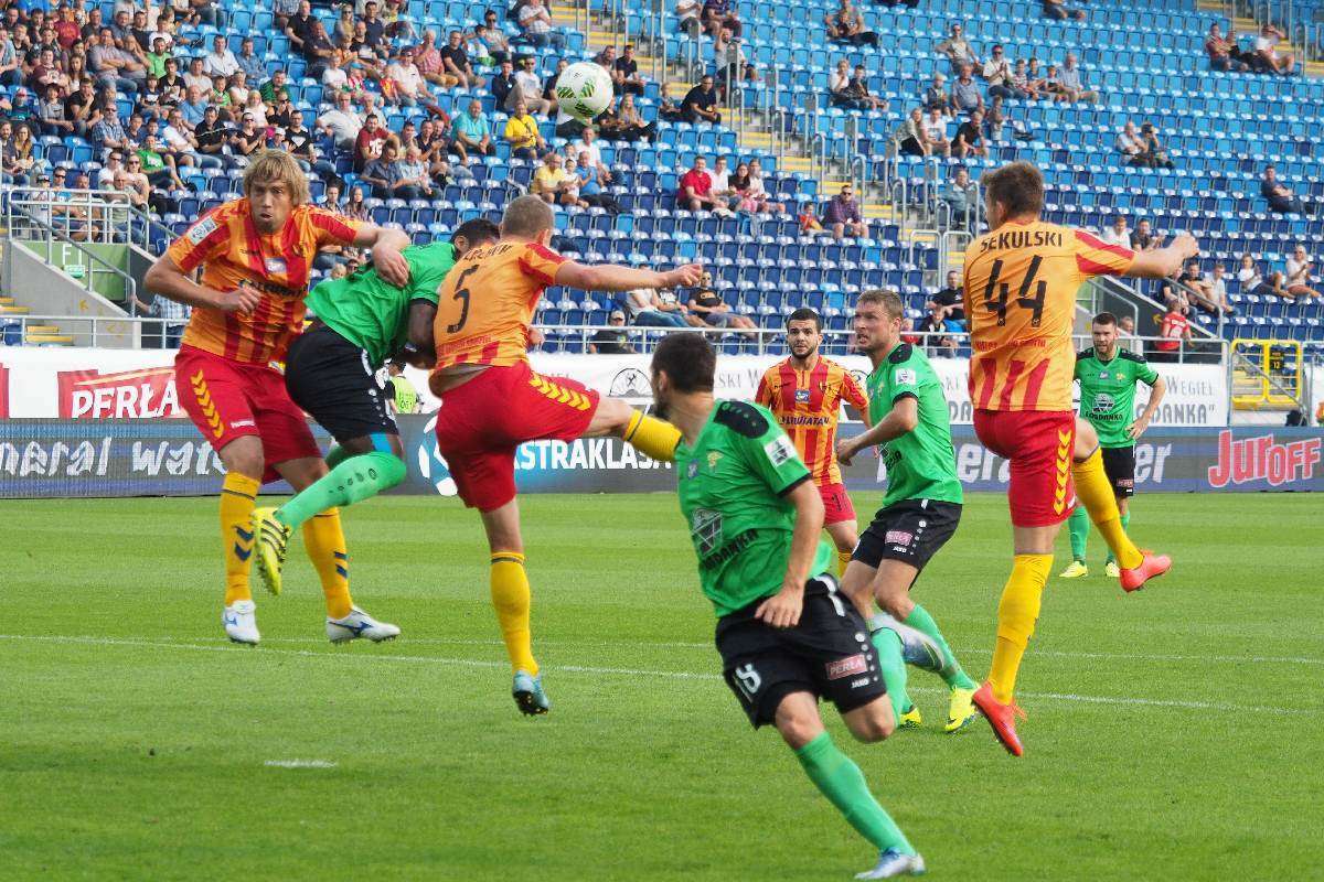
[[[723,676],[757,729],[776,726],[816,787],[874,848],[859,879],[918,875],[924,860],[833,743],[818,714],[831,701],[855,739],[896,727],[879,652],[859,611],[837,592],[824,504],[794,444],[764,407],[714,401],[716,354],[696,333],[671,333],[653,354],[658,417],[681,430],[681,513],[699,583],[718,614]]]

